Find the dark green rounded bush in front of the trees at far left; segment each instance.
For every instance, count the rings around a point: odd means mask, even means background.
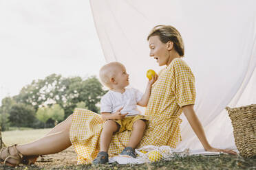
[[[32,106],[26,104],[14,104],[10,109],[9,121],[16,127],[33,127],[36,119],[35,110]]]

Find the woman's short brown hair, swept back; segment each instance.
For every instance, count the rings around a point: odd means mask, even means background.
[[[151,30],[149,36],[147,36],[147,40],[151,36],[159,36],[159,39],[162,43],[167,43],[168,41],[173,42],[173,47],[175,51],[178,52],[180,56],[184,56],[184,43],[180,32],[178,32],[175,27],[171,25],[156,25]]]

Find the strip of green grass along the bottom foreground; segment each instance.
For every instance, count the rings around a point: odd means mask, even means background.
[[[175,157],[173,160],[162,160],[159,162],[147,163],[142,165],[118,165],[116,163],[109,165],[72,165],[66,167],[63,165],[62,167],[54,168],[54,169],[256,169],[255,158],[241,158],[239,156],[231,156],[226,154],[221,154],[220,156],[187,156],[187,157]],[[11,168],[7,168],[11,169]],[[40,169],[39,167],[18,167],[16,169]]]

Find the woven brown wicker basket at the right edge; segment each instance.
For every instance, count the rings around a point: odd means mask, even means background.
[[[226,107],[233,125],[235,145],[241,156],[256,156],[256,104],[239,108]]]

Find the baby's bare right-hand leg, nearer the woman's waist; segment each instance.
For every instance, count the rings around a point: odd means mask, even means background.
[[[144,134],[145,129],[146,122],[144,120],[140,119],[135,121],[132,127],[131,137],[129,139],[127,147],[132,147],[133,149],[135,149],[137,145],[140,143],[140,140]]]

